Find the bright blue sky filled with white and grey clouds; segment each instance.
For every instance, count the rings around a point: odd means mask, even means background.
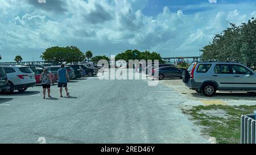
[[[229,23],[256,15],[255,0],[0,0],[0,55],[40,60],[48,47],[94,55],[126,49],[199,56]],[[256,16],[255,16],[256,17]]]

